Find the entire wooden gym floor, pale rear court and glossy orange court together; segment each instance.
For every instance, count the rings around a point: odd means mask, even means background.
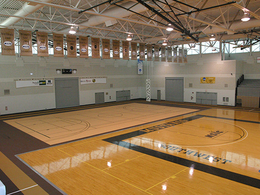
[[[130,103],[5,122],[56,144],[17,157],[61,194],[251,195],[259,121],[254,111]]]

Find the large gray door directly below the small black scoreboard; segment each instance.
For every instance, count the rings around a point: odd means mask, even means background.
[[[79,78],[55,78],[56,108],[80,105]]]

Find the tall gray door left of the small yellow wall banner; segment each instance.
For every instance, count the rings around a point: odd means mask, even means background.
[[[184,101],[184,79],[183,78],[165,78],[165,100]]]

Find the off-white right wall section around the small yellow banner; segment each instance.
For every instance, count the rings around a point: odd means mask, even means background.
[[[157,90],[161,90],[161,99],[165,100],[165,78],[184,78],[184,101],[196,102],[196,92],[217,93],[218,105],[235,105],[236,60],[221,61],[219,54],[188,56],[188,63],[154,62],[152,67],[152,99],[157,99]],[[215,84],[200,83],[201,77],[216,77]],[[193,87],[189,87],[189,84]],[[223,97],[229,102],[223,102]]]

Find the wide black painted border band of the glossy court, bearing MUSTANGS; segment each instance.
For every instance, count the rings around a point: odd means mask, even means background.
[[[187,118],[175,120],[175,121],[172,121],[172,122],[183,120],[183,122],[178,123],[178,124],[182,124],[184,122],[195,120],[195,119],[198,119],[198,118],[201,118],[201,117],[209,117],[209,116],[196,115],[196,116],[193,116],[193,117],[187,117]],[[214,117],[214,118],[221,118],[221,117]],[[234,120],[232,118],[221,118],[221,119]],[[241,120],[241,121],[251,122],[251,121],[244,121],[244,120]],[[169,123],[171,123],[171,122],[164,123],[164,124],[161,124],[161,125],[165,125],[165,124],[169,124]],[[175,124],[175,125],[178,125],[178,124]],[[173,126],[175,126],[175,125],[173,125]],[[160,126],[160,125],[156,125],[156,126]],[[153,126],[153,127],[156,127],[156,126]],[[168,128],[168,127],[165,127],[165,128]],[[158,129],[158,130],[153,130],[153,131],[145,131],[147,129],[149,130],[149,128],[146,128],[146,129],[142,129],[143,131],[138,130],[138,131],[130,132],[130,133],[115,136],[115,137],[109,137],[109,138],[103,139],[103,141],[107,141],[109,143],[112,143],[112,144],[115,144],[115,145],[118,145],[118,146],[122,146],[124,148],[128,148],[130,150],[134,150],[134,151],[137,151],[137,152],[149,155],[149,156],[153,156],[153,157],[156,157],[156,158],[167,160],[167,161],[170,161],[170,162],[173,162],[173,163],[185,166],[185,167],[193,168],[195,170],[198,170],[198,171],[201,171],[201,172],[204,172],[204,173],[208,173],[208,174],[211,174],[211,175],[214,175],[214,176],[220,176],[222,178],[226,178],[226,179],[236,181],[236,182],[241,183],[241,184],[245,184],[245,185],[252,186],[252,187],[260,189],[260,179],[250,177],[250,176],[244,176],[244,175],[241,175],[241,174],[238,174],[238,173],[223,170],[223,169],[220,169],[220,168],[217,168],[217,167],[202,164],[202,163],[195,162],[195,161],[192,161],[192,160],[188,160],[188,159],[185,159],[185,158],[181,158],[181,157],[178,157],[178,156],[173,156],[173,155],[170,155],[170,154],[166,154],[166,153],[162,153],[162,152],[159,152],[159,151],[156,151],[156,150],[152,150],[152,149],[149,149],[149,148],[138,146],[138,145],[126,142],[126,141],[122,141],[124,139],[129,139],[129,138],[132,138],[132,137],[137,137],[137,136],[140,136],[140,135],[144,135],[144,134],[147,134],[147,133],[151,133],[151,132],[154,132],[154,131],[161,130],[161,129]]]

